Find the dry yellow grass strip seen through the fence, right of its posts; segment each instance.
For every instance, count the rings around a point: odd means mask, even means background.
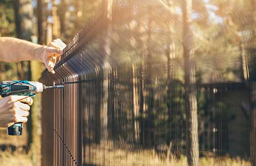
[[[86,147],[86,165],[179,165],[186,166],[187,160],[185,156],[181,156],[180,159],[166,159],[163,156],[159,156],[155,153],[155,150],[113,150],[108,148]],[[162,158],[162,159],[161,159]],[[231,158],[229,156],[214,158],[214,157],[201,157],[200,165],[218,165],[218,166],[249,166],[249,161],[241,158]]]

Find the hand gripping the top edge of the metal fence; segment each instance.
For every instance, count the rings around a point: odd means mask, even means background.
[[[53,68],[55,66],[57,57],[62,55],[62,50],[66,47],[60,39],[55,39],[49,43],[48,46],[44,46],[41,53],[41,61],[45,63],[46,68],[52,74],[55,74]]]

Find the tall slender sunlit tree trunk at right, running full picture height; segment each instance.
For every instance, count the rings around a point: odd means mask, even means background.
[[[199,165],[196,66],[193,32],[190,29],[192,1],[183,0],[183,48],[185,73],[186,144],[188,165]]]

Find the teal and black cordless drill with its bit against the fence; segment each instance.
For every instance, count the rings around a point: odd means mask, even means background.
[[[63,88],[63,85],[46,86],[35,81],[3,81],[0,84],[0,96],[11,95],[35,97],[39,92],[50,88]],[[23,123],[15,123],[8,127],[8,135],[22,135]]]

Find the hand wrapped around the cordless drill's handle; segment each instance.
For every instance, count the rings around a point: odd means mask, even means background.
[[[32,103],[32,98],[26,96],[9,96],[0,99],[0,127],[10,127],[17,122],[27,122]]]

